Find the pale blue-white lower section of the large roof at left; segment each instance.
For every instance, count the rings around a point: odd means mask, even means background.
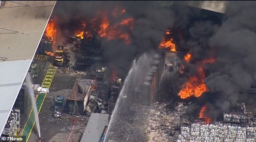
[[[31,60],[0,62],[0,131],[5,126],[10,110],[27,73]]]

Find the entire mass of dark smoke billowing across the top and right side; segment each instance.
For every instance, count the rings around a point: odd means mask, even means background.
[[[108,18],[110,23],[134,18],[134,29],[128,31],[132,43],[102,41],[106,58],[116,66],[131,61],[136,54],[156,49],[168,27],[181,29],[186,37],[176,41],[180,45],[177,48],[187,49],[193,56],[188,70],[195,70],[194,61],[216,58],[214,64],[206,66],[209,73],[205,78],[210,93],[218,94],[216,101],[210,104],[213,117],[228,110],[238,100],[238,88],[249,88],[253,82],[256,2],[229,2],[222,16],[210,16],[187,6],[164,8],[158,4],[151,1],[59,1],[54,15],[61,17],[58,19],[60,26],[76,29],[78,25],[70,21],[92,19],[99,10],[111,13],[117,6],[125,8],[123,16]]]

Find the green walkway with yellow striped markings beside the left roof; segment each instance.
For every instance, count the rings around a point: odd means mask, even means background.
[[[48,71],[46,72],[46,76],[44,78],[44,81],[42,82],[42,87],[43,88],[50,88],[50,85],[52,84],[52,80],[55,76],[57,69],[50,64]],[[36,96],[36,105],[38,109],[38,113],[40,112],[42,105],[44,103],[44,99],[47,94],[40,93]],[[27,119],[27,122],[25,123],[23,132],[21,133],[21,136],[26,136],[26,142],[29,140],[29,136],[32,132],[32,129],[35,125],[35,117],[34,117],[34,112],[31,109],[29,113],[29,117]]]

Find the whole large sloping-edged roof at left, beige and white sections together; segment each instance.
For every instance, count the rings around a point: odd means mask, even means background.
[[[6,1],[0,7],[1,134],[55,3]]]

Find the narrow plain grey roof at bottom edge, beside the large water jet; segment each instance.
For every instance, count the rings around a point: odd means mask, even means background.
[[[92,113],[80,142],[99,142],[108,119],[109,114]]]

